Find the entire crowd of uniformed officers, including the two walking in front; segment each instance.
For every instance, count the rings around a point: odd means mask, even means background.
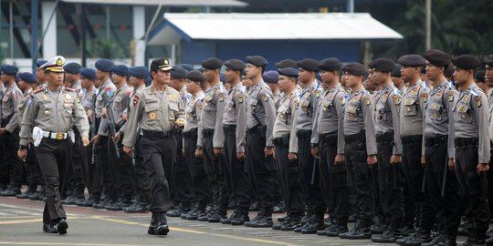
[[[45,232],[67,233],[63,203],[150,210],[156,235],[172,216],[401,245],[493,241],[493,56],[37,66],[1,67],[0,194],[46,200]]]

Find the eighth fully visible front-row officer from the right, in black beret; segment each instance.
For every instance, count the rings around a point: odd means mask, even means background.
[[[292,67],[279,68],[279,90],[283,97],[279,100],[278,117],[274,125],[274,148],[278,168],[278,183],[288,216],[272,226],[274,230],[293,231],[301,226],[305,205],[301,181],[299,179],[298,138],[296,138],[296,116],[299,105],[297,89],[298,70]]]

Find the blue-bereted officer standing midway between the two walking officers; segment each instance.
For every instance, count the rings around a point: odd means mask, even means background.
[[[96,79],[101,81],[101,86],[98,87],[96,93],[96,103],[94,111],[89,111],[88,115],[91,118],[95,118],[95,128],[97,129],[96,135],[91,139],[91,142],[97,146],[97,160],[100,162],[102,172],[98,175],[100,177],[96,179],[103,180],[104,200],[100,200],[100,203],[94,204],[95,209],[104,209],[106,205],[116,202],[116,190],[111,182],[110,174],[110,162],[108,161],[108,136],[106,132],[100,132],[101,118],[106,118],[106,104],[110,100],[112,94],[115,93],[116,87],[111,81],[111,72],[114,64],[109,59],[100,59],[96,61]],[[93,116],[94,115],[94,116]],[[104,178],[103,178],[104,177]],[[101,194],[102,195],[102,194]]]

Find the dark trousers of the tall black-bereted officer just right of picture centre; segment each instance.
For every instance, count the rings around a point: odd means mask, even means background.
[[[247,130],[247,146],[245,159],[248,179],[253,194],[260,200],[260,209],[266,213],[272,212],[274,205],[274,169],[272,157],[266,158],[266,127],[257,126]]]

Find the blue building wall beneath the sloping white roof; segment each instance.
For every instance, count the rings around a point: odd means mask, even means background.
[[[208,57],[226,59],[245,59],[246,56],[264,56],[269,64],[267,69],[274,69],[275,63],[282,59],[300,60],[314,58],[338,57],[342,62],[360,61],[360,43],[355,40],[337,41],[300,41],[300,40],[194,40],[182,41],[180,63],[199,65]]]

